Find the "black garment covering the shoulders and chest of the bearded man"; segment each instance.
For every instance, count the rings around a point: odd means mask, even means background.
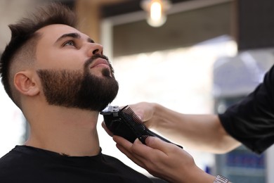
[[[117,158],[63,156],[31,146],[15,146],[0,159],[1,183],[152,182]]]

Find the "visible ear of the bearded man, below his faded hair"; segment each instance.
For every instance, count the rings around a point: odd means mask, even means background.
[[[15,88],[21,94],[28,96],[39,94],[39,85],[37,84],[37,80],[35,80],[34,75],[30,71],[17,72],[14,76],[13,82]]]

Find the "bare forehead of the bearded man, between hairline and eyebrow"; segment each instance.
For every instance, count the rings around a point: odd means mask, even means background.
[[[70,33],[79,34],[81,39],[89,39],[86,34],[79,32],[79,30],[75,29],[74,27],[62,24],[47,25],[37,30],[37,32],[41,34],[41,39],[39,42],[54,43],[64,34]]]

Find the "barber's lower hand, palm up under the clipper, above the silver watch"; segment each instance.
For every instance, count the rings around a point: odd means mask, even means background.
[[[195,165],[190,154],[157,137],[148,137],[145,140],[146,145],[138,139],[133,144],[119,136],[113,136],[113,139],[122,153],[155,177],[168,182],[213,182],[214,180],[213,176],[207,175]]]

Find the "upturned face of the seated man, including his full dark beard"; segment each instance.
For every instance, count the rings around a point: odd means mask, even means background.
[[[35,69],[51,105],[102,111],[118,92],[103,46],[67,25],[38,30]]]

